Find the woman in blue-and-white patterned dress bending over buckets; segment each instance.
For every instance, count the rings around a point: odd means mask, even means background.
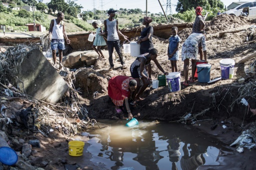
[[[181,50],[181,60],[184,61],[184,77],[185,81],[183,82],[183,85],[188,86],[188,66],[189,66],[189,59],[191,59],[191,68],[192,68],[192,76],[189,77],[190,82],[194,82],[194,73],[196,68],[196,58],[198,53],[198,44],[202,44],[202,50],[203,50],[203,56],[204,61],[207,62],[206,58],[206,43],[205,43],[205,32],[202,33],[191,33],[185,42],[182,45]]]

